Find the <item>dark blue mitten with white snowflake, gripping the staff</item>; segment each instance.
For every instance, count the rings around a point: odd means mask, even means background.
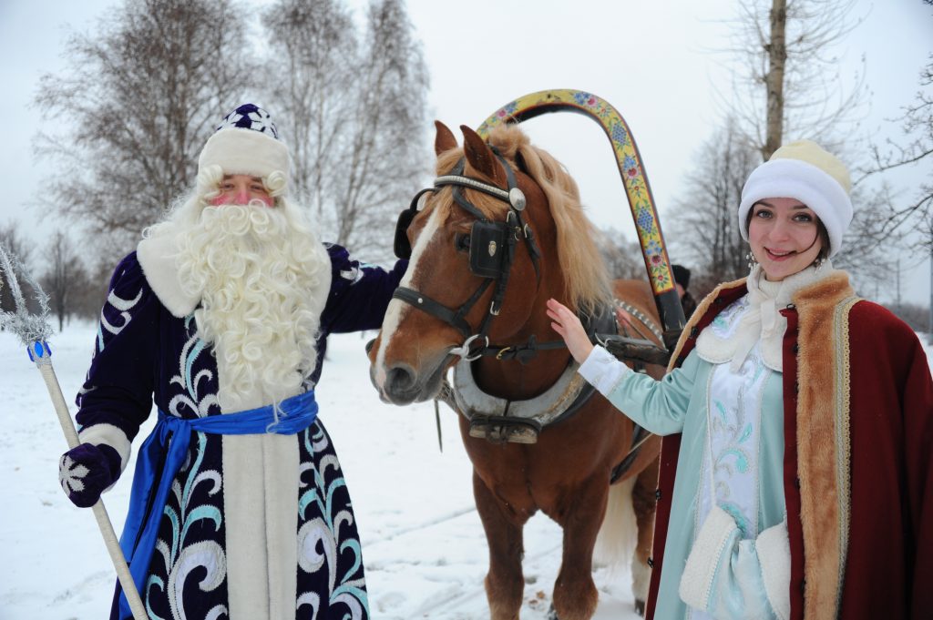
[[[81,444],[71,448],[59,461],[59,482],[68,499],[78,508],[87,508],[101,499],[101,493],[120,474],[116,449],[101,444]]]

